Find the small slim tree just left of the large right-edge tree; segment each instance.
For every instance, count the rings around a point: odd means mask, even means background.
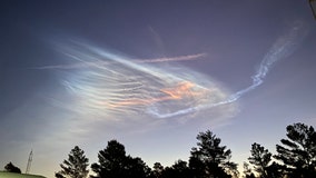
[[[249,162],[255,166],[255,170],[261,178],[268,178],[267,167],[271,160],[271,154],[268,149],[255,142],[251,145],[251,156],[248,158]]]

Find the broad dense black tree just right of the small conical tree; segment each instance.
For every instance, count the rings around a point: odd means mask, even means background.
[[[93,178],[146,178],[150,168],[140,158],[126,156],[125,147],[117,140],[108,141],[106,149],[100,150],[99,164],[92,164]]]

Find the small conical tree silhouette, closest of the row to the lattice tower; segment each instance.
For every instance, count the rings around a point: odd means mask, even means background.
[[[60,164],[62,170],[57,172],[57,178],[69,177],[69,178],[86,178],[88,176],[89,159],[86,158],[85,151],[78,146],[71,149],[68,155],[68,160],[63,160]]]

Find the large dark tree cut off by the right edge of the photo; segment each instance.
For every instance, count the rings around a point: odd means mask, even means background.
[[[284,146],[276,145],[276,159],[284,162],[289,177],[312,178],[316,175],[316,132],[304,123],[286,127],[287,138]]]

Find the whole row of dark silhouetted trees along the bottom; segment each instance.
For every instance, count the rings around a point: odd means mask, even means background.
[[[149,168],[139,157],[126,154],[117,140],[98,154],[98,162],[91,164],[85,151],[76,146],[68,159],[60,164],[57,178],[315,178],[316,134],[312,126],[294,123],[286,127],[286,139],[276,145],[276,155],[254,142],[244,171],[230,161],[231,150],[220,145],[220,138],[210,130],[197,135],[197,146],[191,148],[188,161],[177,160],[170,167],[156,162]]]

